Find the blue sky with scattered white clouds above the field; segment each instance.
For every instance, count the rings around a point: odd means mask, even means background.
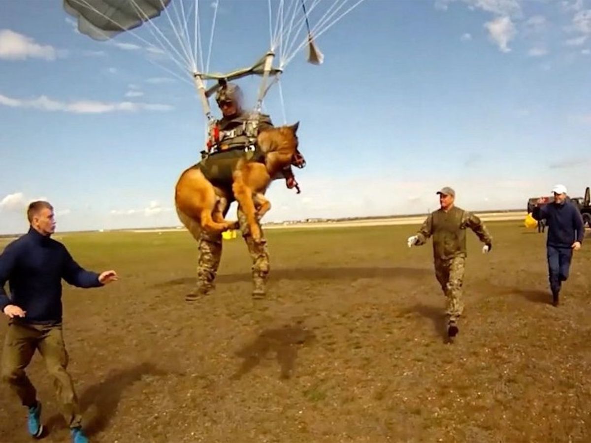
[[[214,8],[199,4],[209,37]],[[267,8],[220,0],[210,70],[265,53]],[[317,44],[324,63],[301,52],[281,80],[308,162],[302,193],[275,181],[268,221],[424,213],[444,185],[472,210],[591,185],[590,0],[366,0]],[[59,230],[179,224],[174,185],[199,160],[202,109],[145,47],[77,33],[61,2],[3,4],[0,233],[27,229],[23,209],[41,197]],[[240,81],[251,99],[258,81]],[[281,124],[278,91],[265,109]]]

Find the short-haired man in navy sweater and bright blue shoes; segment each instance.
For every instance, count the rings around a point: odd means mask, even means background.
[[[86,443],[82,417],[72,379],[67,373],[68,354],[61,330],[61,279],[80,288],[103,286],[118,277],[115,271],[100,275],[85,271],[66,247],[51,239],[56,230],[53,207],[34,201],[27,210],[31,224],[27,234],[10,243],[0,255],[0,310],[9,317],[2,352],[2,380],[28,408],[28,430],[43,436],[41,403],[25,368],[35,350],[54,377],[62,413],[74,443]],[[4,285],[9,282],[11,297]]]

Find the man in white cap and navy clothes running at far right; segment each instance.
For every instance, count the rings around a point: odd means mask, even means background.
[[[554,202],[545,206],[535,206],[531,215],[536,220],[547,220],[548,275],[552,291],[552,304],[558,306],[562,282],[569,278],[573,251],[579,250],[583,243],[584,225],[583,217],[577,207],[567,201],[566,187],[556,185],[552,192],[554,193]],[[541,203],[544,201],[540,198],[538,205]]]

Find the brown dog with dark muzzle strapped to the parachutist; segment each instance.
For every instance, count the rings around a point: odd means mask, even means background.
[[[303,162],[298,151],[296,136],[299,123],[292,126],[280,126],[259,133],[257,144],[264,155],[264,163],[241,159],[232,172],[232,193],[242,211],[255,241],[261,239],[261,230],[256,223],[269,209],[271,203],[265,198],[273,177],[291,164]],[[199,240],[201,229],[210,232],[223,232],[234,229],[237,222],[223,218],[217,201],[228,198],[225,191],[207,180],[199,168],[185,170],[178,179],[175,192],[175,204],[178,218]]]

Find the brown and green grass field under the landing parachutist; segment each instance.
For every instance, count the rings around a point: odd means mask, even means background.
[[[415,226],[269,230],[270,300],[256,307],[240,238],[224,244],[215,294],[189,304],[188,233],[63,236],[87,269],[121,275],[64,290],[92,441],[591,441],[591,243],[554,308],[544,234],[488,226],[489,255],[470,234],[454,344],[431,246],[406,246]],[[45,441],[69,441],[38,355],[29,374]],[[29,442],[6,386],[0,411],[0,441]]]

